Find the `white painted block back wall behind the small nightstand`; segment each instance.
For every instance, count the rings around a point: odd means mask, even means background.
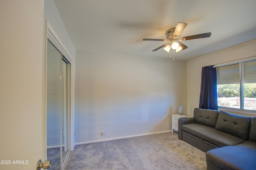
[[[76,52],[76,144],[170,131],[179,104],[186,62]]]

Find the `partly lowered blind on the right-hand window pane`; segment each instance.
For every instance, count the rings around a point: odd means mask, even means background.
[[[244,83],[256,83],[256,60],[244,62]]]

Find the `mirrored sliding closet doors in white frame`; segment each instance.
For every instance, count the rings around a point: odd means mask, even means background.
[[[70,62],[47,41],[46,138],[47,159],[63,170],[70,153]]]

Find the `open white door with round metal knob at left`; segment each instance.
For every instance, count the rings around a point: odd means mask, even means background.
[[[0,1],[0,169],[35,170],[43,154],[44,0]]]

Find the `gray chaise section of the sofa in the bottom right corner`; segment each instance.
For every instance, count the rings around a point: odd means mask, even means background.
[[[206,163],[222,170],[253,170],[256,167],[256,142],[247,141],[206,152]]]

